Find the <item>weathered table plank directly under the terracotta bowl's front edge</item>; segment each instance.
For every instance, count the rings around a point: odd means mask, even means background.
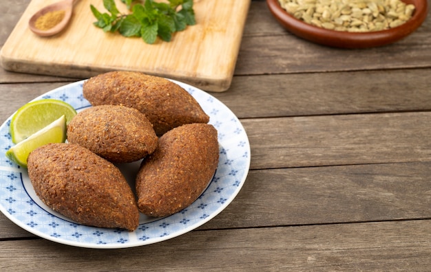
[[[286,50],[291,54],[286,56]],[[422,32],[414,32],[386,47],[367,50],[322,47],[290,34],[244,36],[235,75],[430,67],[430,60],[431,35]]]

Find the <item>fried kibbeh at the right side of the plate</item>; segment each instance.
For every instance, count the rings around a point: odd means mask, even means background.
[[[185,124],[168,131],[138,171],[139,211],[162,217],[191,205],[207,188],[218,159],[217,131],[211,124]]]

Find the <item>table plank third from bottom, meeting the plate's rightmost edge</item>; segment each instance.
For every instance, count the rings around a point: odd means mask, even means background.
[[[430,112],[241,120],[251,169],[431,160]]]

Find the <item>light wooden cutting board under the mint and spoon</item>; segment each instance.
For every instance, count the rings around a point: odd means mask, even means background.
[[[58,0],[32,0],[0,52],[9,71],[88,78],[112,70],[144,73],[187,82],[206,91],[226,91],[232,80],[251,0],[196,0],[196,25],[147,45],[141,38],[105,33],[90,4],[105,12],[102,0],[80,0],[72,21],[55,36],[39,37],[28,28],[32,14]],[[116,1],[120,11],[125,5]]]

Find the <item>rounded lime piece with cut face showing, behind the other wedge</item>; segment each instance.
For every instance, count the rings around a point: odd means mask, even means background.
[[[70,104],[55,99],[36,100],[21,106],[10,121],[12,142],[18,144],[57,120],[61,115],[65,115],[66,123],[69,124],[76,115],[76,111]]]

